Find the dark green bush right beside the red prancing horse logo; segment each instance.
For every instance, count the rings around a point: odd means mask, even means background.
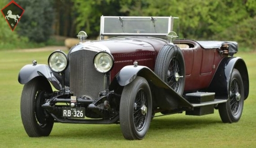
[[[16,0],[25,12],[17,26],[20,36],[27,36],[29,41],[45,42],[52,34],[54,11],[50,0]]]

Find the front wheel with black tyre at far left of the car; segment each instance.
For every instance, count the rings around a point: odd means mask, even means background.
[[[24,85],[20,100],[20,114],[29,137],[48,136],[51,132],[54,118],[41,106],[46,101],[45,93],[51,92],[49,82],[39,77]]]

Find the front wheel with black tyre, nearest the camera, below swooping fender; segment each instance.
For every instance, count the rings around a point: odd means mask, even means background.
[[[123,89],[120,102],[120,126],[125,139],[140,140],[150,127],[152,116],[151,90],[142,77]]]

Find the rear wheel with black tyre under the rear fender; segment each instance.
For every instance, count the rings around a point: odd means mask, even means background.
[[[226,103],[218,105],[219,114],[222,122],[237,122],[241,118],[243,112],[244,89],[240,72],[233,69],[230,86],[229,99]]]

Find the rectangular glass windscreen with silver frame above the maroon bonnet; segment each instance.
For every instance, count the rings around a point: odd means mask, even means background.
[[[102,34],[167,34],[171,17],[103,17]]]

